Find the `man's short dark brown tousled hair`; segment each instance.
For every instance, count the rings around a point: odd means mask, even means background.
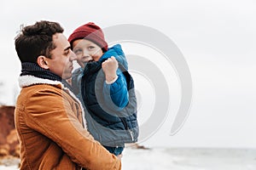
[[[50,52],[56,48],[52,37],[63,31],[59,23],[46,20],[21,28],[20,34],[15,37],[15,49],[21,63],[37,63],[40,55],[50,59]]]

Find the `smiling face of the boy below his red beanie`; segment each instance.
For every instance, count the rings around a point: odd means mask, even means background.
[[[77,61],[81,67],[84,67],[84,63],[98,61],[103,54],[102,48],[86,39],[75,40],[73,52],[77,55]]]

